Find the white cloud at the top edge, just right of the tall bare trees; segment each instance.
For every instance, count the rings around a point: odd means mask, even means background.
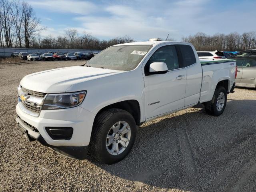
[[[37,6],[37,8],[47,9],[53,12],[61,13],[86,15],[94,12],[97,9],[97,6],[91,2],[78,0],[40,0],[28,2],[32,6]]]

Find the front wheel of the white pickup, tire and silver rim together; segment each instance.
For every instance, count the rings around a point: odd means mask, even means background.
[[[129,112],[116,108],[106,110],[95,119],[90,153],[102,163],[116,163],[132,149],[136,132],[135,120]]]

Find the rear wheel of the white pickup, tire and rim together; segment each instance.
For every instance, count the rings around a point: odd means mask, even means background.
[[[213,116],[220,116],[226,107],[227,103],[227,92],[222,86],[217,86],[212,100],[205,103],[205,111],[207,114]]]

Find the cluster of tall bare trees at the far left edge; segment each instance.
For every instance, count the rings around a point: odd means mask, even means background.
[[[44,30],[26,2],[0,0],[0,47],[31,48],[35,34]]]

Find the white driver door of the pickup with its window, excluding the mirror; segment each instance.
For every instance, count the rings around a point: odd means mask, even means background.
[[[179,64],[176,47],[158,48],[146,63],[145,70],[153,62],[165,62],[168,72],[144,76],[146,119],[184,107],[186,70]]]

